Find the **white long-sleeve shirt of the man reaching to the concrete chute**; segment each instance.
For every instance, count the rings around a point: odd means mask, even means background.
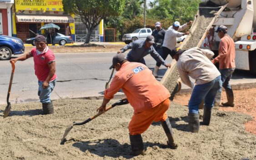
[[[163,43],[163,47],[166,47],[170,50],[174,49],[177,44],[177,37],[181,37],[184,33],[180,32],[182,30],[185,30],[187,27],[187,24],[183,24],[179,27],[178,30],[173,29],[172,26],[170,26],[166,30],[166,35]]]

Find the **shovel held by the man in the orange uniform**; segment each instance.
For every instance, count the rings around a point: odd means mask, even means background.
[[[124,105],[124,104],[128,104],[128,100],[127,99],[121,99],[117,102],[115,102],[114,104],[112,104],[111,106],[109,107],[106,107],[106,111],[110,110],[111,108],[115,107],[115,106],[121,106],[121,105]],[[85,123],[88,123],[89,121],[93,120],[94,118],[96,118],[97,116],[100,116],[101,114],[103,114],[103,112],[99,112],[97,113],[96,115],[88,118],[87,120],[83,121],[83,122],[80,122],[80,123],[73,123],[71,126],[69,126],[66,130],[65,130],[65,133],[63,135],[63,138],[61,139],[61,142],[60,142],[60,145],[64,145],[66,139],[65,137],[68,135],[68,133],[70,132],[70,130],[73,128],[73,126],[80,126],[80,125],[84,125]]]

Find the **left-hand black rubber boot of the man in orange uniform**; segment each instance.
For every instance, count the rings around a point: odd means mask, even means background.
[[[145,155],[144,145],[141,135],[130,135],[131,155]]]

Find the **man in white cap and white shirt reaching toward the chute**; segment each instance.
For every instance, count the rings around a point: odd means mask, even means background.
[[[163,43],[163,54],[161,55],[164,60],[166,60],[168,54],[171,55],[171,50],[176,47],[177,44],[177,37],[181,37],[183,35],[188,35],[190,32],[187,31],[185,33],[182,33],[180,31],[185,30],[188,25],[192,24],[193,21],[189,21],[186,24],[180,25],[180,22],[176,21],[166,30],[166,35]],[[161,65],[158,65],[156,67],[160,67]]]

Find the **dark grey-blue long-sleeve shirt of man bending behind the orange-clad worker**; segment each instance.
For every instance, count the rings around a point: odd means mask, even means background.
[[[145,40],[136,40],[131,44],[127,44],[124,48],[120,50],[124,53],[126,50],[131,49],[127,54],[127,59],[130,62],[141,62],[143,57],[150,54],[157,62],[161,62],[163,65],[167,65],[165,60],[156,52],[155,48],[151,46],[150,48],[145,49]]]

